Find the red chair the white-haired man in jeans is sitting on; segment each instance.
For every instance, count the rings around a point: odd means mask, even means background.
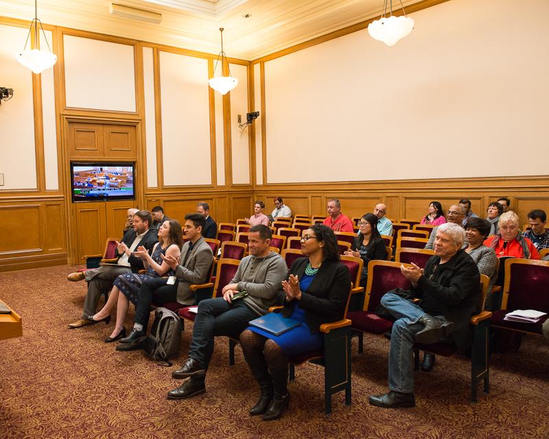
[[[479,309],[482,310],[486,294],[488,292],[490,279],[485,274],[480,275],[480,295]],[[471,401],[477,401],[478,384],[483,382],[484,393],[489,392],[489,332],[490,318],[492,313],[489,311],[480,311],[480,313],[471,317],[473,326],[473,345],[471,347]],[[434,344],[415,344],[414,360],[415,370],[419,370],[419,351],[429,352],[443,357],[452,357],[457,348],[453,343],[434,343]]]

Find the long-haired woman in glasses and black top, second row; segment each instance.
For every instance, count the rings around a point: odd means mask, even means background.
[[[364,213],[360,222],[360,230],[355,238],[351,250],[347,250],[347,256],[354,256],[364,261],[360,274],[360,286],[366,287],[368,280],[368,263],[374,259],[384,260],[386,257],[385,241],[377,230],[377,216],[373,213]]]

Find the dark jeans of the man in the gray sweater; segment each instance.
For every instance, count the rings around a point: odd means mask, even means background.
[[[194,319],[189,358],[200,361],[207,369],[213,353],[213,337],[226,335],[238,340],[248,322],[257,317],[257,313],[242,299],[233,304],[224,298],[202,300]]]

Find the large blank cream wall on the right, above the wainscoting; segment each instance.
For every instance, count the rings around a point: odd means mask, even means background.
[[[269,183],[548,174],[549,1],[410,16],[266,62]]]

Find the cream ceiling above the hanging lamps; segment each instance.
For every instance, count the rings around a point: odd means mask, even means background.
[[[404,5],[420,0],[403,0]],[[38,0],[43,23],[254,60],[378,16],[384,0],[113,0],[162,14],[160,24],[110,16],[110,0]],[[393,7],[399,5],[393,1]],[[250,18],[244,18],[251,14]],[[31,20],[34,0],[0,0],[0,15]]]

